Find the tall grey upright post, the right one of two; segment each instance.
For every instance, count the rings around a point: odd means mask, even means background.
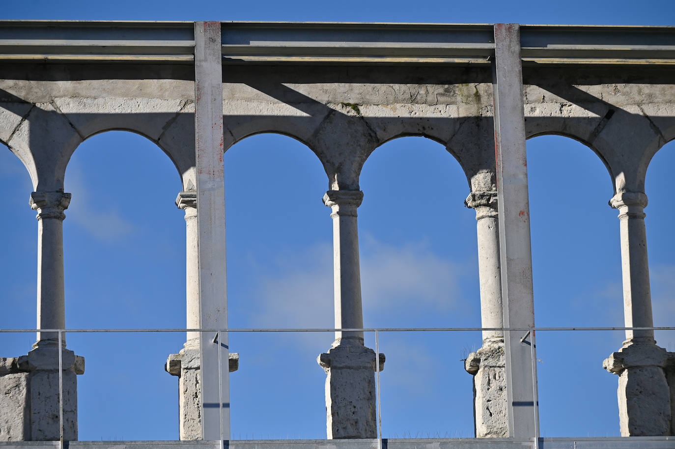
[[[499,197],[499,254],[502,265],[504,327],[535,325],[532,250],[522,99],[520,27],[495,24],[493,90]],[[504,333],[509,436],[537,433],[531,347],[524,331]]]

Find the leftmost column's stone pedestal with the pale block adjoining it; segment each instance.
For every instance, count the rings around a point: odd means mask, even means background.
[[[62,350],[63,440],[78,439],[77,375],[84,358]],[[59,353],[57,346],[28,355],[0,358],[0,441],[53,441],[59,428]]]

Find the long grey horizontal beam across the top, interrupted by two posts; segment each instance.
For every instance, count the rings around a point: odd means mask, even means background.
[[[491,24],[221,22],[233,62],[466,63],[494,53]],[[539,63],[675,61],[675,27],[521,26],[522,56]],[[0,21],[0,59],[192,60],[192,22]],[[357,61],[354,61],[357,58]]]

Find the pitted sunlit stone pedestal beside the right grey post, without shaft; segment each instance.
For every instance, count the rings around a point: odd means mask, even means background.
[[[473,375],[476,438],[508,437],[504,339],[485,340],[468,354],[464,369]]]

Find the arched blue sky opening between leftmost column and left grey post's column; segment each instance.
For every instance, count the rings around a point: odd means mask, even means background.
[[[173,204],[179,179],[163,152],[138,133],[103,132],[78,147],[65,180],[72,193],[63,221],[69,327],[184,327],[186,224]],[[109,422],[143,438],[175,431],[173,378],[157,371],[157,359],[148,360],[142,348],[163,348],[165,357],[182,346],[184,336],[80,334],[76,340],[70,334],[78,353],[91,354],[86,361],[90,380],[78,391],[80,438],[92,438],[94,423],[104,419],[92,399],[103,389],[109,395]],[[138,373],[148,375],[133,385],[111,381],[113,360],[124,356],[136,360]],[[132,414],[124,409],[130,394],[142,398]],[[170,424],[143,427],[138,417],[148,413]]]

